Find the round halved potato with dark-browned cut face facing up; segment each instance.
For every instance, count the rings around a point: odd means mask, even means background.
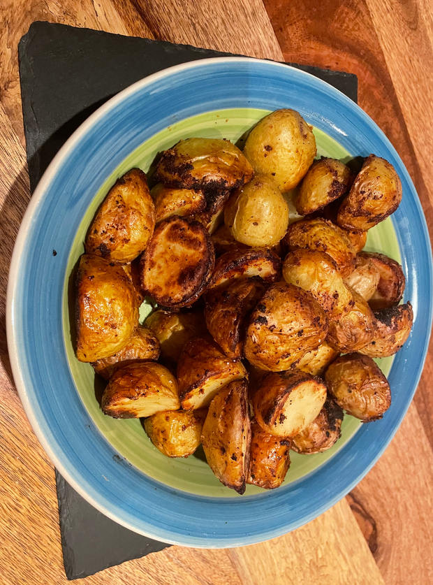
[[[156,226],[142,255],[142,287],[163,307],[185,307],[205,289],[214,263],[214,245],[203,225],[169,217]]]

